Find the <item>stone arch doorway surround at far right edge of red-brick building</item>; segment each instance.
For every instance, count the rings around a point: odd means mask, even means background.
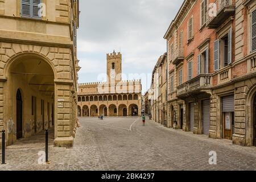
[[[246,146],[253,146],[254,138],[254,98],[256,97],[256,85],[252,86],[246,97]],[[236,121],[235,121],[236,122]]]

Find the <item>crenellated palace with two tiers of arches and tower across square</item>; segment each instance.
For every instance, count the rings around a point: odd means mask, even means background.
[[[141,80],[122,80],[122,55],[110,53],[107,81],[79,84],[78,116],[141,116]]]

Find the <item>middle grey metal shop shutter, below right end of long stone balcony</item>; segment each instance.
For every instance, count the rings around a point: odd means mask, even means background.
[[[210,100],[203,101],[203,134],[209,135],[210,130]]]

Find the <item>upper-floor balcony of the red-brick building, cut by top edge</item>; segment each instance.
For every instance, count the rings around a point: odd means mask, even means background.
[[[207,11],[206,24],[209,28],[219,27],[226,19],[236,12],[236,2],[234,0],[216,0],[213,6]]]

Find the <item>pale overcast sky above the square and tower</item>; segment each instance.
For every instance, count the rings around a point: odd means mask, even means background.
[[[122,72],[151,74],[166,52],[163,39],[183,0],[82,0],[78,30],[79,82],[106,73],[106,53],[122,53]],[[142,82],[142,94],[150,87]]]

